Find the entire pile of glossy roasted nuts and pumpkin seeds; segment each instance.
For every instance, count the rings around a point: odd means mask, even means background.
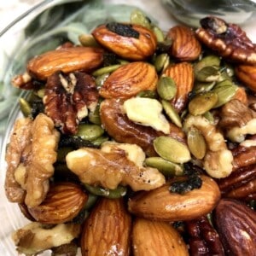
[[[28,61],[5,189],[33,255],[256,255],[256,45],[140,11]]]

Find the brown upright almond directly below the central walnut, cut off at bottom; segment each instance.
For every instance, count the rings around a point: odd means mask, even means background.
[[[130,253],[131,216],[123,198],[102,198],[86,219],[81,237],[81,252],[89,255]]]

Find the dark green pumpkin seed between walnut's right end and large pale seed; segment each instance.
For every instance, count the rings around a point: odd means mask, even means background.
[[[148,157],[145,160],[146,166],[157,168],[164,176],[173,177],[183,175],[183,166],[177,165],[161,157]]]

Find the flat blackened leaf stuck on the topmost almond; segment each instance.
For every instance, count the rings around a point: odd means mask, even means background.
[[[139,38],[140,33],[132,28],[130,24],[122,24],[118,22],[110,22],[106,25],[109,31],[115,32],[120,36],[127,38]]]

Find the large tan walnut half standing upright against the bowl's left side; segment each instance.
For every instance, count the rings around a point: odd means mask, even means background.
[[[9,201],[22,203],[25,197],[27,207],[44,201],[49,177],[54,173],[59,137],[52,119],[44,113],[33,121],[16,121],[6,154],[5,189]]]

